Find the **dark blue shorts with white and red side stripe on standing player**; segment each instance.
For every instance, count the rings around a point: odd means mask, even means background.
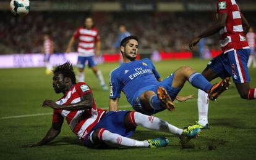
[[[247,68],[249,55],[250,49],[231,50],[213,58],[208,67],[222,79],[232,76],[234,83],[250,82]]]

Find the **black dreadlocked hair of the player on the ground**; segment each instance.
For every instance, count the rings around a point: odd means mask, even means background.
[[[53,73],[61,73],[64,78],[70,78],[72,84],[76,84],[75,73],[73,65],[67,61],[63,65],[58,65],[54,68]]]

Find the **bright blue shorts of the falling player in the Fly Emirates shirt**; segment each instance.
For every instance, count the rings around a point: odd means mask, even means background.
[[[173,77],[174,73],[172,73],[168,78],[163,79],[163,81],[158,82],[158,84],[153,84],[147,87],[143,87],[142,89],[138,90],[137,93],[135,93],[135,96],[132,100],[132,108],[134,108],[135,111],[138,111],[143,114],[152,115],[155,113],[158,113],[160,111],[165,110],[165,108],[161,110],[154,110],[152,113],[148,113],[148,111],[143,110],[142,105],[140,103],[140,95],[142,95],[144,92],[151,90],[156,93],[158,87],[162,86],[166,91],[168,92],[168,95],[171,97],[172,100],[175,100],[177,94],[179,94],[179,91],[181,91],[181,88],[177,89],[171,86],[173,84]]]

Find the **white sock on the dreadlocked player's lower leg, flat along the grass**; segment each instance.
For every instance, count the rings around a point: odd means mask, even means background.
[[[100,129],[98,138],[103,140],[109,146],[128,146],[128,147],[148,147],[147,141],[138,141],[131,138],[123,137],[119,134],[114,134],[105,129]]]

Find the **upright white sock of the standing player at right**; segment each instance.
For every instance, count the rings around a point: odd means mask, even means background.
[[[198,123],[202,126],[208,124],[208,94],[203,90],[198,89],[198,99],[197,99],[197,107],[198,107]]]

